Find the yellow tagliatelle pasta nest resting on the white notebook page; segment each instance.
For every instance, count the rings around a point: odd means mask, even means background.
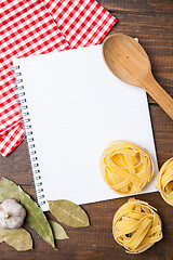
[[[129,141],[120,140],[108,144],[99,165],[105,182],[121,194],[139,193],[154,174],[149,153]]]

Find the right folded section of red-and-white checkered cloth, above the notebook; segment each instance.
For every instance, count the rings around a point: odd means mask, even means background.
[[[95,0],[44,0],[70,47],[98,44],[117,20]]]

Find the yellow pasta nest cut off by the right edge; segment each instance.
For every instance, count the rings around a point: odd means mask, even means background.
[[[173,158],[167,160],[160,169],[158,190],[165,203],[173,206]]]

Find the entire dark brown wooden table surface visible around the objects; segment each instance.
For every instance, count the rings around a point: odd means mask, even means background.
[[[152,72],[158,82],[173,96],[173,1],[172,0],[99,0],[118,20],[110,34],[122,32],[138,37],[148,53]],[[148,96],[159,167],[173,157],[173,121]],[[137,122],[136,122],[137,123]],[[145,138],[145,136],[144,136]],[[34,197],[27,145],[23,142],[6,158],[0,156],[0,177],[6,177]],[[17,252],[6,244],[0,244],[0,259],[56,259],[56,260],[111,260],[111,259],[173,259],[173,207],[167,205],[159,193],[135,196],[158,209],[163,223],[163,239],[141,255],[128,255],[111,234],[112,217],[127,198],[84,205],[91,226],[84,229],[65,227],[69,239],[56,243],[53,250],[37,233],[31,233],[34,250]],[[53,219],[46,213],[49,219]]]

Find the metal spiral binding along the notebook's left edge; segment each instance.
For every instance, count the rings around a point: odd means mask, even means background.
[[[37,194],[36,198],[37,198],[38,205],[42,206],[42,205],[46,204],[46,202],[44,199],[44,193],[43,193],[44,191],[43,191],[42,180],[41,180],[41,174],[40,174],[39,160],[38,160],[38,156],[37,156],[37,150],[36,150],[36,144],[35,144],[35,139],[34,139],[31,121],[30,121],[30,117],[29,117],[27,100],[25,98],[22,73],[19,72],[19,65],[11,67],[11,70],[14,72],[13,77],[15,78],[14,83],[16,86],[15,87],[16,95],[18,96],[18,100],[19,100],[18,103],[22,108],[23,122],[24,122],[23,126],[25,128],[25,133],[26,133],[26,138],[27,138],[27,143],[28,143],[29,157],[30,157],[30,164],[31,164],[31,169],[32,169],[34,190],[35,190],[35,193]]]

